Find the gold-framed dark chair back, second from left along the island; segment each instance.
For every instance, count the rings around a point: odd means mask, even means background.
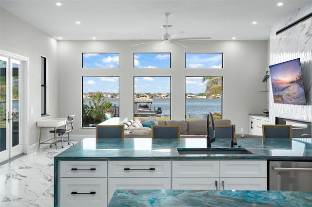
[[[152,138],[180,138],[180,125],[152,125]]]

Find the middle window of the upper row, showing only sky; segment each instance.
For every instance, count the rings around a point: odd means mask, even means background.
[[[171,53],[134,53],[134,68],[171,68]]]

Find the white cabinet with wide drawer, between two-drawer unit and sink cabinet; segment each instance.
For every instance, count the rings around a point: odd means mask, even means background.
[[[171,161],[109,161],[108,201],[117,189],[171,189]]]

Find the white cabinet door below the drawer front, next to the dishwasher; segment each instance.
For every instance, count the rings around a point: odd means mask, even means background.
[[[267,190],[264,177],[220,177],[220,190]]]

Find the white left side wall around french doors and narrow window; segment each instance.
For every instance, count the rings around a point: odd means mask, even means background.
[[[29,145],[39,141],[36,121],[47,119],[41,117],[41,56],[47,57],[48,62],[48,113],[50,117],[58,116],[57,44],[54,38],[0,8],[0,50],[29,58]],[[34,108],[34,113],[30,113],[30,108]]]

